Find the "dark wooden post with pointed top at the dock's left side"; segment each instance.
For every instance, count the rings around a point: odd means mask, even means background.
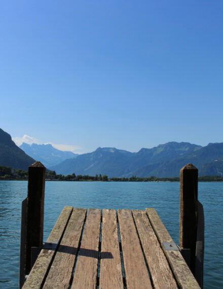
[[[46,168],[41,162],[34,162],[29,166],[25,241],[26,275],[31,270],[31,247],[43,245],[45,172]]]

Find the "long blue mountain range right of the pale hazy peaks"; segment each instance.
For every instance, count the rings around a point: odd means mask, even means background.
[[[168,142],[152,149],[131,153],[116,148],[98,148],[88,154],[68,159],[50,167],[58,174],[95,175],[108,177],[175,177],[187,163],[199,169],[199,175],[223,175],[223,143],[201,147],[189,142]]]

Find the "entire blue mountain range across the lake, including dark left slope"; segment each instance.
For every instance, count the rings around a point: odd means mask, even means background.
[[[152,149],[142,148],[137,153],[116,148],[98,148],[91,153],[76,155],[59,151],[51,144],[23,143],[19,148],[10,134],[0,129],[0,165],[28,170],[34,160],[64,175],[175,177],[179,176],[179,170],[185,164],[193,163],[199,175],[223,176],[223,142],[201,147],[189,142],[172,141]]]

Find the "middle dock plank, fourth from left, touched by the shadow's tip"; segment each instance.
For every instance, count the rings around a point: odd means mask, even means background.
[[[104,209],[102,215],[99,287],[104,289],[124,287],[117,216],[113,209]]]

